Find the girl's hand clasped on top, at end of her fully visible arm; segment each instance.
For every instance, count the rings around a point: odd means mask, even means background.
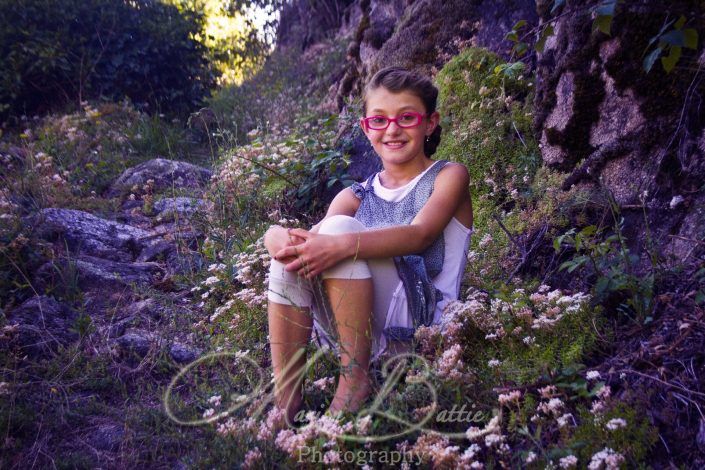
[[[350,256],[348,238],[356,234],[321,235],[299,228],[289,230],[293,237],[304,242],[279,250],[274,259],[288,262],[287,271],[297,271],[299,276],[311,279]],[[293,258],[293,261],[291,261]]]

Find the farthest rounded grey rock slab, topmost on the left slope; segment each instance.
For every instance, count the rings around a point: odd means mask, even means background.
[[[155,158],[129,168],[113,183],[108,192],[110,197],[129,192],[132,186],[142,186],[147,180],[154,180],[156,191],[175,186],[179,188],[203,188],[211,177],[210,170],[187,162]]]

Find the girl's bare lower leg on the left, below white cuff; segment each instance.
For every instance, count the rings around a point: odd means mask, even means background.
[[[267,307],[269,343],[274,370],[275,405],[286,411],[288,423],[302,402],[304,348],[311,337],[313,320],[308,308],[270,301]]]

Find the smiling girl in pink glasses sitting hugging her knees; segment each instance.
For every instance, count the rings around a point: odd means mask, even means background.
[[[437,97],[428,78],[402,68],[375,74],[360,125],[384,170],[342,190],[311,230],[265,234],[275,403],[289,422],[312,330],[340,354],[329,412],[355,411],[370,392],[371,356],[408,345],[458,297],[472,205],[467,169],[430,158],[440,142]]]

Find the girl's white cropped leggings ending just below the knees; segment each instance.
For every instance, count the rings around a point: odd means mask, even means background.
[[[366,230],[365,226],[352,217],[335,215],[324,220],[318,233],[336,235]],[[374,288],[372,312],[372,359],[376,359],[387,349],[387,340],[382,334],[385,328],[412,328],[406,293],[397,274],[394,260],[348,259],[324,271],[311,281],[297,273],[284,270],[284,264],[272,260],[269,270],[270,302],[310,308],[316,338],[322,346],[336,349],[335,320],[321,284],[322,279],[369,279]]]

